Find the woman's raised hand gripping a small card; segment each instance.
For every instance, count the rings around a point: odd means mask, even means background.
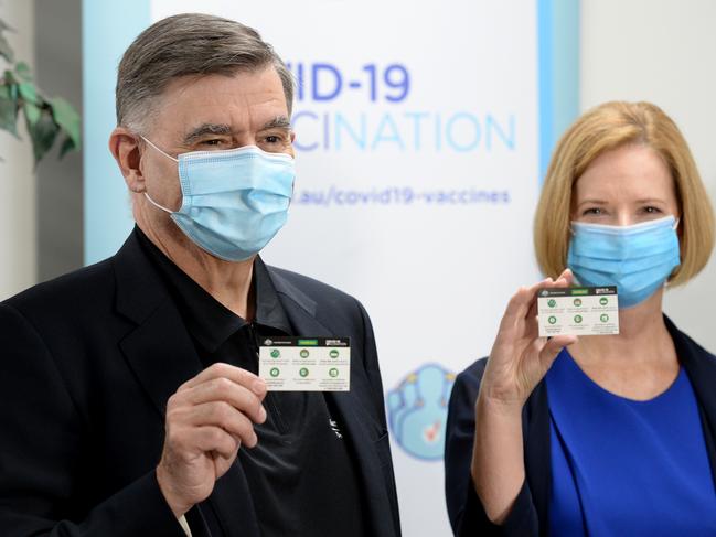
[[[566,269],[556,281],[547,278],[512,297],[482,377],[480,397],[485,402],[521,410],[562,348],[577,341],[574,335],[539,337],[536,319],[537,291],[571,282],[571,271]]]

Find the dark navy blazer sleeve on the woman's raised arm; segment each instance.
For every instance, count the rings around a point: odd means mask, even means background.
[[[456,378],[448,407],[445,443],[445,494],[456,536],[537,536],[539,524],[525,480],[512,511],[498,526],[488,518],[470,475],[474,438],[474,404],[487,359],[475,362]],[[524,418],[523,418],[524,419]]]

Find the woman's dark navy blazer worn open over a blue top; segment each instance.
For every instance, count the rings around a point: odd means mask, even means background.
[[[664,316],[676,355],[688,374],[699,404],[712,476],[716,484],[716,356],[709,354]],[[549,408],[541,382],[522,412],[526,480],[502,526],[488,519],[470,476],[474,436],[474,404],[487,358],[458,375],[448,409],[445,448],[445,493],[448,514],[458,536],[547,536],[552,487]]]

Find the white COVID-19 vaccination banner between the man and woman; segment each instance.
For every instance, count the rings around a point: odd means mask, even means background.
[[[441,461],[455,375],[489,352],[516,287],[538,278],[552,2],[147,1],[151,22],[201,10],[254,26],[293,73],[296,195],[264,258],[364,303],[404,535],[450,535]]]

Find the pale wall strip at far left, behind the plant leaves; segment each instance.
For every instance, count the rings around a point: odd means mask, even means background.
[[[15,56],[34,65],[34,1],[0,0],[0,18],[17,29],[6,33]],[[36,280],[35,174],[24,120],[20,123],[22,140],[0,131],[0,300]]]

